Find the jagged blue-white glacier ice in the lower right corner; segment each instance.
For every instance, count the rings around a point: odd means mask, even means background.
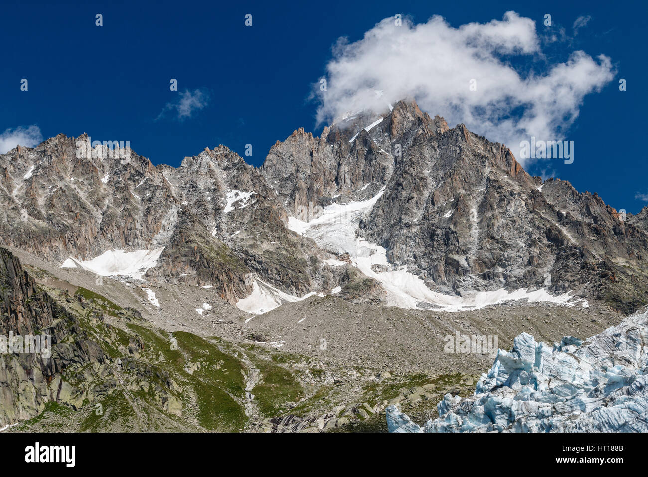
[[[395,406],[390,432],[648,432],[648,311],[584,343],[523,333],[500,350],[474,395],[448,394],[419,426]]]

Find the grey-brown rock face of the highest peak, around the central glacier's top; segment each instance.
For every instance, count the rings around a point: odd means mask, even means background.
[[[434,291],[564,293],[588,283],[586,295],[625,313],[647,302],[641,217],[623,222],[596,194],[542,184],[504,145],[450,129],[414,103],[341,119],[321,138],[297,130],[273,146],[262,172],[302,220],[384,187],[358,235]]]

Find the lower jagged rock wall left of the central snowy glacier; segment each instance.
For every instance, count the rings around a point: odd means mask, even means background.
[[[288,293],[329,286],[312,241],[284,228],[272,188],[238,154],[205,149],[176,169],[133,151],[77,158],[86,141],[60,134],[0,156],[5,245],[58,263],[166,247],[148,279],[211,284],[231,302],[251,273]]]

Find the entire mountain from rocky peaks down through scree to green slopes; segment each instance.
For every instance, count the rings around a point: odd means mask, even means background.
[[[648,300],[648,208],[531,177],[413,101],[299,128],[260,167],[90,145],[0,155],[0,341],[51,337],[0,356],[9,430],[387,430],[390,404],[434,420],[492,364],[448,336],[544,352],[531,335]]]

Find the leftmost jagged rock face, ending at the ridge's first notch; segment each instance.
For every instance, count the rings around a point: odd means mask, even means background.
[[[103,158],[107,149],[98,158],[77,158],[76,144],[86,141],[59,134],[0,156],[6,245],[54,262],[110,248],[146,249],[156,234],[170,234],[168,215],[178,200],[163,174],[132,151],[128,160],[117,151]]]

